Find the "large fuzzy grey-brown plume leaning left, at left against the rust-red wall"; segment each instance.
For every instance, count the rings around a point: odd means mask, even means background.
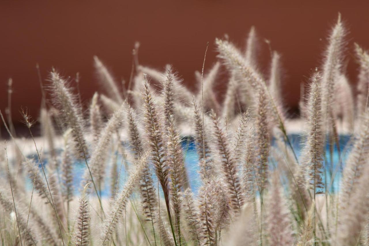
[[[88,156],[88,149],[83,131],[85,129],[83,116],[80,115],[80,109],[77,106],[75,95],[68,88],[67,82],[54,69],[50,73],[52,100],[57,107],[62,117],[63,124],[72,129],[73,139],[76,142],[76,147],[79,150],[81,157]]]

